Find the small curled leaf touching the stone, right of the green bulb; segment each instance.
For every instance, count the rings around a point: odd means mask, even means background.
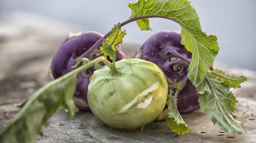
[[[165,112],[167,114],[167,124],[169,126],[169,128],[180,134],[180,135],[183,135],[185,134],[186,132],[189,132],[190,131],[190,128],[187,126],[187,124],[184,122],[184,120],[182,119],[181,117],[181,114],[179,113],[178,111],[178,108],[177,108],[177,95],[175,93],[174,96],[172,96],[172,89],[170,89],[170,93],[167,97],[167,105],[168,105],[168,108],[165,109]]]

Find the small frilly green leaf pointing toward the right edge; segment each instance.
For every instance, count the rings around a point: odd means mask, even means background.
[[[214,69],[211,73],[223,81],[223,84],[228,88],[240,88],[240,84],[247,81],[247,78],[244,76],[236,77],[234,75],[226,75],[222,70]]]

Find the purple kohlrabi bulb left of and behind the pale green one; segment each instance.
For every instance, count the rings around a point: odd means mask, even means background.
[[[76,36],[67,37],[61,44],[58,52],[55,54],[52,60],[51,72],[53,77],[56,79],[73,70],[74,68],[72,68],[71,66],[76,64],[76,59],[79,58],[80,55],[85,53],[93,44],[95,44],[102,37],[102,34],[94,31],[88,31]],[[87,58],[92,60],[100,55],[103,54],[101,54],[101,51],[98,47]],[[116,61],[123,58],[125,58],[125,55],[119,49],[119,51],[116,53]],[[111,61],[109,58],[108,60]],[[85,103],[88,103],[87,90],[89,85],[89,78],[93,74],[93,71],[94,68],[91,67],[85,70],[83,73],[77,74],[77,84],[74,97],[85,101]],[[82,105],[80,103],[78,105],[76,102],[76,105],[80,110],[89,110],[89,106],[86,106],[86,104]]]

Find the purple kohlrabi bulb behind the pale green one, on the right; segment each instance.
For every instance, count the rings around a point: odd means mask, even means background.
[[[176,84],[181,82],[188,73],[189,62],[171,54],[170,49],[191,60],[192,53],[181,44],[180,33],[175,31],[161,31],[152,35],[134,57],[157,64],[165,73],[169,88],[175,92]],[[199,96],[191,81],[187,80],[186,86],[177,97],[179,112],[187,113],[199,108]]]

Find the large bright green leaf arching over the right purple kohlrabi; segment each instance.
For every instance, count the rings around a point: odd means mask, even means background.
[[[181,25],[182,44],[192,52],[192,60],[188,69],[188,77],[194,85],[200,84],[205,73],[212,66],[218,54],[217,37],[202,32],[198,15],[188,0],[138,0],[129,3],[132,9],[131,18],[138,18],[141,30],[147,30],[148,20],[142,18],[166,18]],[[139,18],[142,17],[142,18]],[[143,24],[142,24],[143,23]]]

